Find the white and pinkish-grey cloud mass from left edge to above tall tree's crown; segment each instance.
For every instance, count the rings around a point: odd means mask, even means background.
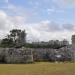
[[[9,16],[5,11],[0,10],[0,33],[4,33],[4,36],[13,28],[23,29],[22,25],[24,25],[24,17]]]

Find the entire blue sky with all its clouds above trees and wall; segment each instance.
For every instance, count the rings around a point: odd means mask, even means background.
[[[75,0],[0,0],[0,38],[26,30],[27,41],[67,39],[75,34]]]

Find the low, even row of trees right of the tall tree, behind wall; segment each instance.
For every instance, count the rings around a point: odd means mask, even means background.
[[[33,43],[26,43],[25,47],[27,48],[52,48],[52,49],[59,49],[64,46],[69,45],[67,40],[59,41],[59,40],[51,40],[49,42],[33,42]]]

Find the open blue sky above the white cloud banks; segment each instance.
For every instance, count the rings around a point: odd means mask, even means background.
[[[30,15],[28,22],[40,22],[42,20],[52,20],[65,23],[73,23],[75,20],[75,7],[65,3],[60,3],[54,0],[6,0],[0,1],[0,8],[13,5],[17,8],[21,8],[22,11]],[[10,7],[10,6],[9,6]],[[7,9],[6,9],[7,10]],[[21,11],[20,11],[21,12]],[[12,14],[9,10],[7,14]],[[15,13],[13,13],[15,15]]]

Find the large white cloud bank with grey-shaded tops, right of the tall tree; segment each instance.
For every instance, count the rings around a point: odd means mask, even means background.
[[[67,39],[71,42],[71,36],[74,34],[75,26],[72,24],[59,25],[56,22],[42,21],[37,24],[27,25],[29,29],[28,40],[31,41],[49,41]],[[71,29],[70,29],[71,28]]]

